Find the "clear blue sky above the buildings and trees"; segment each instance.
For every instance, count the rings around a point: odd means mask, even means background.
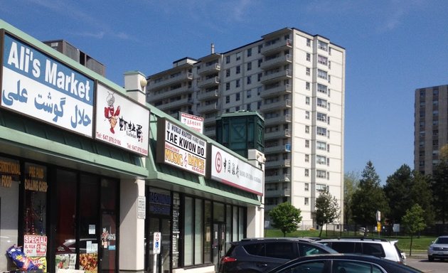
[[[151,75],[298,28],[346,48],[345,172],[367,161],[382,183],[414,168],[414,92],[448,84],[445,0],[0,0],[0,18],[40,41],[64,39],[106,66]]]

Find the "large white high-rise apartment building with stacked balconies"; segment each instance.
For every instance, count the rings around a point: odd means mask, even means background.
[[[260,112],[265,211],[290,202],[302,210],[302,228],[310,228],[325,188],[343,209],[345,70],[345,48],[283,28],[225,53],[215,53],[212,44],[209,55],[175,61],[148,77],[146,101],[174,117],[203,117],[203,132],[212,139],[221,114]]]

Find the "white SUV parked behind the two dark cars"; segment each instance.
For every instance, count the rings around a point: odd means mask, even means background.
[[[397,247],[397,240],[373,238],[337,238],[319,240],[339,253],[357,253],[390,259],[393,262],[406,263],[406,255]]]

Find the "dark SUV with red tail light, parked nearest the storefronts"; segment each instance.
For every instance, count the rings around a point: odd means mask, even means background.
[[[310,239],[250,238],[231,242],[221,258],[220,273],[261,273],[290,259],[319,253],[337,253],[326,245]]]

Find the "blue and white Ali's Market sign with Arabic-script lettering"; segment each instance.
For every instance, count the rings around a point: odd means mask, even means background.
[[[1,107],[92,137],[94,82],[4,33]]]

